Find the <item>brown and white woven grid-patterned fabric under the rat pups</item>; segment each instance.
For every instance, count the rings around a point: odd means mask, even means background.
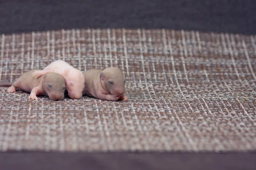
[[[256,149],[256,36],[73,29],[0,36],[0,80],[63,59],[120,68],[128,102],[38,101],[0,87],[0,150]]]

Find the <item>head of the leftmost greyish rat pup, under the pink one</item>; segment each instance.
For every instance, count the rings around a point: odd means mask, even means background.
[[[43,87],[47,95],[52,100],[64,99],[66,90],[64,77],[57,73],[45,74],[43,77]]]

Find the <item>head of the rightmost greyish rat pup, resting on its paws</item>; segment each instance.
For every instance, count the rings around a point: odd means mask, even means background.
[[[125,93],[125,77],[122,71],[116,67],[109,67],[100,73],[103,87],[114,96],[122,96]]]

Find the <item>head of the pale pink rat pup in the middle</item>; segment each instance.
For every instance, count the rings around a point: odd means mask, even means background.
[[[71,99],[80,99],[84,90],[84,74],[78,69],[64,71],[68,96]]]

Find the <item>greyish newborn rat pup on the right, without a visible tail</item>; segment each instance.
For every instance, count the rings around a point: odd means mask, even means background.
[[[128,96],[125,95],[125,77],[119,68],[91,69],[83,74],[86,79],[83,95],[111,101],[128,101]]]

